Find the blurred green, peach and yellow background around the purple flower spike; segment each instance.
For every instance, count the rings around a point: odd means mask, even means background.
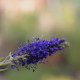
[[[35,72],[8,70],[0,80],[80,80],[80,0],[1,0],[0,57],[33,37],[66,38],[70,47]]]

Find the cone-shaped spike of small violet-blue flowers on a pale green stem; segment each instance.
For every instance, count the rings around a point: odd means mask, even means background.
[[[19,50],[16,51],[16,54],[12,54],[12,57],[14,58],[12,62],[15,65],[12,65],[11,67],[17,68],[17,65],[21,65],[29,69],[30,64],[35,67],[39,61],[43,62],[42,60],[46,59],[47,56],[51,56],[58,50],[63,50],[65,48],[63,46],[63,43],[65,41],[65,38],[52,38],[51,40],[40,40],[36,37],[31,41],[28,40],[24,47],[21,43]],[[21,57],[15,60],[17,56]]]

